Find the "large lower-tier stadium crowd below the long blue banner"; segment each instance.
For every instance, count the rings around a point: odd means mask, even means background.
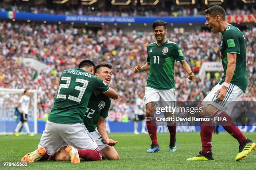
[[[5,21],[0,22],[0,30],[0,87],[36,89],[40,113],[49,113],[62,70],[77,67],[83,59],[93,60],[95,64],[108,62],[113,65],[110,86],[119,93],[118,100],[111,105],[109,120],[121,121],[124,115],[133,117],[135,99],[138,93],[143,92],[148,75],[147,72],[134,74],[133,68],[137,63],[146,63],[147,45],[155,41],[153,33],[104,28],[93,32],[64,24]],[[256,28],[248,28],[243,33],[246,38],[248,87],[242,100],[255,101]],[[223,74],[207,73],[204,80],[198,75],[202,62],[220,61],[220,35],[204,31],[184,32],[175,28],[169,30],[167,39],[179,44],[196,77],[189,81],[179,63],[175,65],[177,100],[202,100]],[[50,68],[36,73],[33,67],[21,62],[22,57],[35,58]]]

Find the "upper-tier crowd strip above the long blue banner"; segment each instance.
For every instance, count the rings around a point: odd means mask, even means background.
[[[205,15],[205,5],[170,5],[168,7],[151,5],[110,5],[108,7],[96,7],[88,5],[34,5],[33,3],[0,3],[0,11],[15,11],[29,13],[49,13],[59,15],[94,15],[94,16],[121,16],[121,17],[169,17],[169,16],[198,16]],[[157,9],[157,10],[156,10]],[[227,15],[255,13],[255,5],[243,4],[242,6],[229,4],[225,8]]]

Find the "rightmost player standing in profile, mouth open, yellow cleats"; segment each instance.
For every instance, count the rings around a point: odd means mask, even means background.
[[[225,20],[225,10],[220,6],[212,6],[205,10],[206,22],[212,33],[221,32],[220,53],[224,75],[222,80],[212,88],[201,103],[204,108],[200,117],[215,117],[223,128],[240,144],[236,160],[246,157],[255,147],[255,143],[246,138],[230,117],[236,104],[247,87],[246,45],[242,32]],[[216,119],[225,117],[225,119]],[[225,121],[224,121],[225,120]],[[201,142],[202,152],[187,160],[214,160],[212,156],[212,122],[202,121]]]

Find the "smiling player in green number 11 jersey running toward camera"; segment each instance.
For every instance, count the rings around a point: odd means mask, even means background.
[[[154,117],[155,105],[153,101],[176,101],[174,89],[174,63],[180,62],[184,70],[188,73],[188,78],[192,80],[194,73],[187,64],[179,45],[175,42],[166,40],[167,23],[162,20],[157,20],[153,23],[154,35],[156,42],[148,45],[147,63],[142,67],[138,64],[134,68],[134,72],[149,70],[147,86],[145,88],[146,104],[146,124],[148,134],[151,138],[151,146],[147,150],[149,153],[154,153],[160,150],[156,137],[156,119]],[[167,102],[171,106],[170,103]],[[176,122],[171,122],[167,125],[170,133],[169,151],[177,150],[176,144]]]

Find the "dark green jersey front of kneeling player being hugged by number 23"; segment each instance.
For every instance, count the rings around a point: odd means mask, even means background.
[[[84,125],[89,132],[96,131],[99,117],[108,117],[108,110],[111,104],[111,99],[102,93],[95,94],[92,92],[87,110],[84,116]]]

